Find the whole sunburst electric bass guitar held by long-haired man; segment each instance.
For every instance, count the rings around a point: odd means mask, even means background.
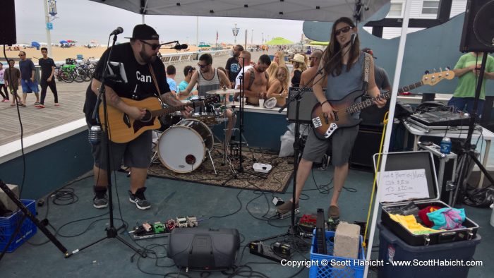
[[[414,90],[415,88],[421,87],[422,85],[433,86],[443,79],[451,80],[453,78],[454,72],[449,70],[426,74],[423,75],[420,82],[399,88],[398,93]],[[359,123],[361,123],[362,120],[354,119],[351,114],[354,114],[356,111],[360,111],[361,109],[373,106],[375,104],[374,100],[389,99],[391,97],[391,92],[385,91],[378,97],[373,97],[363,102],[354,103],[355,99],[361,97],[362,95],[362,90],[356,90],[347,95],[347,97],[331,101],[331,107],[337,110],[334,112],[335,119],[329,119],[329,117],[323,113],[323,108],[321,107],[320,103],[315,104],[314,108],[312,109],[311,124],[314,128],[316,137],[321,140],[328,139],[331,137],[332,133],[337,130],[337,128],[347,128],[358,125]]]

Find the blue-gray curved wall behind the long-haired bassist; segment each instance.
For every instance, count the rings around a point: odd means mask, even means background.
[[[410,33],[406,36],[404,61],[399,87],[410,85],[421,80],[426,70],[433,72],[435,68],[444,71],[446,66],[454,68],[459,56],[459,42],[462,36],[464,13],[451,18],[447,23]],[[396,59],[398,55],[399,37],[391,40],[381,39],[362,29],[366,23],[359,24],[359,39],[361,48],[370,47],[375,63],[387,71],[390,81],[393,81]],[[303,23],[303,32],[311,40],[327,41],[330,37],[332,23],[309,22]],[[442,80],[433,87],[424,85],[413,92],[452,93],[457,86],[457,78]],[[494,95],[493,80],[486,84],[486,95]]]

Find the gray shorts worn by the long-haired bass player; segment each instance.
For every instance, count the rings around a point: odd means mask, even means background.
[[[338,128],[329,140],[319,140],[314,132],[311,129],[308,133],[306,147],[303,148],[303,159],[320,162],[327,147],[331,145],[331,161],[334,166],[342,166],[349,162],[351,150],[354,148],[355,139],[359,133],[359,126]]]

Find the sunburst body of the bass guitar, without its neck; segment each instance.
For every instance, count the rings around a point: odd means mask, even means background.
[[[337,128],[347,128],[351,126],[356,126],[361,123],[361,119],[354,119],[347,108],[354,104],[355,99],[358,99],[363,95],[361,90],[351,92],[347,97],[339,100],[332,100],[330,102],[331,107],[335,111],[335,119],[330,119],[329,116],[323,113],[323,107],[321,104],[315,104],[312,109],[311,123],[314,128],[314,133],[317,138],[324,140],[330,138],[332,133],[334,133]]]

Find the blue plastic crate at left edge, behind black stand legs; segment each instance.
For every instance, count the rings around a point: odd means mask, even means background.
[[[28,207],[28,210],[36,215],[36,202],[35,200],[21,200],[23,204]],[[24,213],[18,211],[12,214],[10,217],[0,217],[0,252],[4,250],[8,241],[11,239],[12,234],[16,231],[18,221],[23,219]],[[11,245],[8,246],[7,252],[13,252],[19,246],[21,246],[24,241],[36,234],[36,225],[32,223],[31,219],[26,217],[23,224],[20,226],[20,231],[16,236],[16,239],[12,241]]]

